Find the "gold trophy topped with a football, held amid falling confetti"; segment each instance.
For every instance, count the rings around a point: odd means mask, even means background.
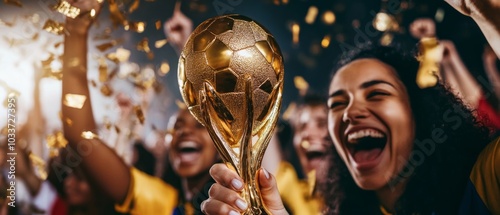
[[[244,214],[270,214],[255,173],[278,120],[283,75],[274,37],[241,15],[201,23],[179,59],[179,88],[189,111],[245,182],[242,196],[249,207]]]

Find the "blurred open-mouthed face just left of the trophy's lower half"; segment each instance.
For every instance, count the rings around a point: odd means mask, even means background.
[[[190,178],[208,173],[218,154],[208,131],[189,113],[180,110],[169,150],[169,160],[181,177]]]

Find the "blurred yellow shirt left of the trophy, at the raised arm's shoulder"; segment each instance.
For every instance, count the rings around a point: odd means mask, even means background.
[[[178,204],[178,191],[161,179],[131,168],[131,183],[122,204],[116,211],[131,215],[172,214]]]

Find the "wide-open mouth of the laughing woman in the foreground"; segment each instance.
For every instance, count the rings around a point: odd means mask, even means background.
[[[375,167],[387,145],[387,135],[376,129],[362,129],[347,134],[347,150],[358,170]]]

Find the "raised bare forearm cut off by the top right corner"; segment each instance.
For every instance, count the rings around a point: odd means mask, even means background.
[[[445,0],[481,28],[488,43],[500,58],[500,1],[498,0]]]

